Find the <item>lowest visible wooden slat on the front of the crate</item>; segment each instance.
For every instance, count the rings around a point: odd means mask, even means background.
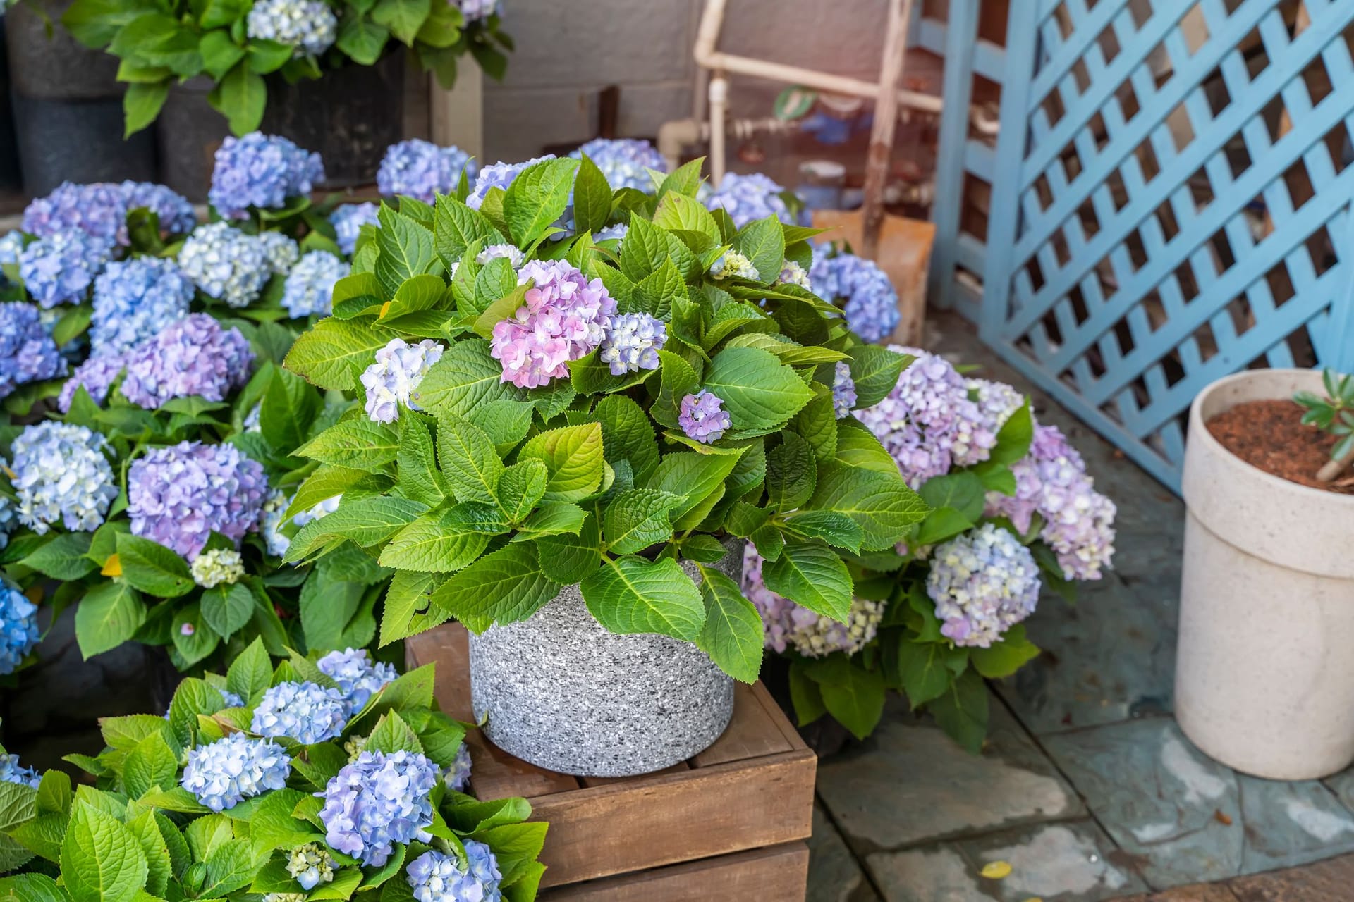
[[[803,902],[808,847],[788,842],[546,890],[543,902]]]

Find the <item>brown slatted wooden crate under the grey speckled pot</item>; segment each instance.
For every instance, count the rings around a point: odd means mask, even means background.
[[[464,627],[406,641],[409,667],[437,664],[437,703],[474,721]],[[550,822],[543,899],[734,902],[804,898],[816,757],[766,688],[738,684],[712,746],[634,778],[567,776],[517,760],[479,730],[466,737],[473,792],[527,798]]]

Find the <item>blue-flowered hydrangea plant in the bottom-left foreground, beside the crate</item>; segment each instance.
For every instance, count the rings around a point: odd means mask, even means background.
[[[107,748],[66,756],[93,786],[3,756],[0,895],[531,902],[547,825],[464,792],[466,725],[432,684],[360,652],[274,668],[255,642],[164,717],[100,721]]]

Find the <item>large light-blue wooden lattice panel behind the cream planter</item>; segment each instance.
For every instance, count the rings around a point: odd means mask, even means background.
[[[1354,365],[1354,0],[1028,1],[982,335],[1175,487],[1205,384]]]

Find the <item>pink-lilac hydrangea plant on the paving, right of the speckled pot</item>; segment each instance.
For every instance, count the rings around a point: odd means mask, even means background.
[[[764,579],[761,546],[746,550],[743,590],[788,659],[802,726],[830,714],[858,738],[877,725],[886,690],[900,690],[976,752],[987,732],[983,678],[1033,659],[1025,637],[1040,590],[1068,594],[1109,565],[1114,504],[1055,426],[1034,423],[1010,385],[965,379],[940,356],[915,357],[877,404],[842,430],[868,429],[890,467],[932,506],[898,545],[848,559],[849,621],[827,621]]]

